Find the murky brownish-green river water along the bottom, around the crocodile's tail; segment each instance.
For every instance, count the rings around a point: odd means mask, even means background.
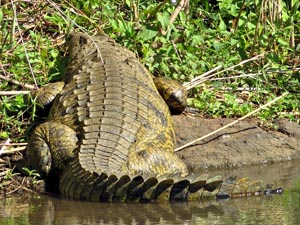
[[[0,224],[300,224],[300,162],[209,171],[224,177],[250,176],[282,195],[187,203],[90,203],[46,195],[0,200]]]

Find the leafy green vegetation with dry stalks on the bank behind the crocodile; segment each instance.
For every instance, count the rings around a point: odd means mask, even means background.
[[[9,93],[0,96],[0,139],[24,138],[34,101],[11,91],[59,79],[71,31],[104,31],[135,51],[155,76],[188,82],[222,67],[190,90],[189,104],[205,116],[240,117],[288,92],[257,116],[299,122],[299,0],[193,0],[178,15],[188,1],[2,2],[0,90]],[[253,60],[239,65],[246,59]]]

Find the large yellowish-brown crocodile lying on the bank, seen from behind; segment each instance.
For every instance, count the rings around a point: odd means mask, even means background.
[[[92,201],[186,200],[218,189],[221,179],[189,175],[174,154],[168,106],[134,53],[104,35],[72,34],[68,43],[63,82],[40,96],[54,102],[30,137],[32,168],[54,176],[63,196]]]

